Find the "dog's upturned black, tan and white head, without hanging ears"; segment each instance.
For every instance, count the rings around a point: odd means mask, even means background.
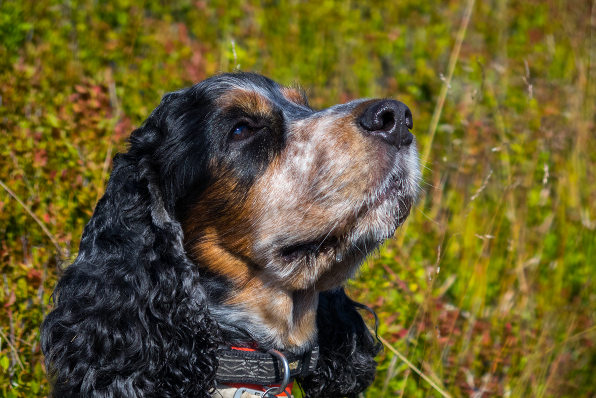
[[[339,287],[417,194],[412,114],[398,101],[315,111],[302,91],[226,73],[168,94],[148,123],[170,142],[157,158],[187,250],[237,282]]]

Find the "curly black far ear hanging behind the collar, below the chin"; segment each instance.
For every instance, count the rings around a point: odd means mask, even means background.
[[[373,383],[374,357],[381,344],[371,335],[359,309],[373,312],[343,290],[319,294],[319,359],[315,372],[300,383],[305,397],[352,398]]]

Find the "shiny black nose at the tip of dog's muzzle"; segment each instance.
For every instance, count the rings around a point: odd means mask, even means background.
[[[403,102],[394,99],[382,99],[374,102],[362,112],[358,123],[371,135],[379,136],[387,144],[400,148],[412,144],[414,125],[412,112]]]

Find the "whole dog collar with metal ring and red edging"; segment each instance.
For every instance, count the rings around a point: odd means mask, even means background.
[[[318,356],[318,346],[301,354],[222,347],[218,349],[219,366],[215,374],[218,392],[229,394],[232,391],[228,387],[235,388],[230,397],[240,398],[244,394],[241,390],[256,397],[262,397],[266,390],[271,396],[274,390],[277,396],[288,397],[287,391],[291,391],[294,377],[306,377],[314,371]],[[278,391],[280,388],[274,387],[280,384],[283,390]]]

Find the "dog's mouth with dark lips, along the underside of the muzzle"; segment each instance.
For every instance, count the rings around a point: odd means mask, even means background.
[[[321,254],[333,254],[336,262],[346,257],[346,251],[360,252],[364,256],[371,249],[376,248],[384,240],[391,238],[395,230],[408,218],[413,198],[404,194],[403,179],[392,176],[371,199],[359,207],[351,216],[347,216],[340,228],[332,228],[326,235],[309,241],[297,242],[285,246],[280,253],[284,262],[296,262],[301,259],[316,259]],[[367,214],[380,212],[384,214],[386,228],[379,229],[378,225],[368,220]],[[376,217],[378,219],[378,216]],[[364,223],[365,225],[360,225]],[[371,224],[367,226],[366,223]],[[364,227],[364,228],[363,228]],[[366,236],[355,237],[357,230],[368,230]],[[362,235],[362,232],[359,233]]]

